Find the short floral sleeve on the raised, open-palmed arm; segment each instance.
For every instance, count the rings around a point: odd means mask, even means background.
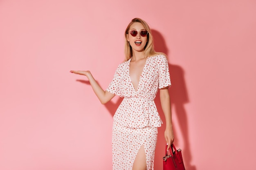
[[[121,80],[121,69],[120,69],[120,65],[119,65],[117,67],[117,70],[115,71],[114,78],[112,79],[112,82],[110,82],[106,91],[122,97],[121,91],[120,91],[120,80]]]

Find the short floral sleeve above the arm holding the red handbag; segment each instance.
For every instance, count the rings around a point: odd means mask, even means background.
[[[170,87],[171,79],[166,56],[161,55],[159,61],[159,86],[158,88]]]

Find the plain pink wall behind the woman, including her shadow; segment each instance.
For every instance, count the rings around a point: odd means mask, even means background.
[[[69,71],[90,70],[106,89],[135,17],[168,55],[186,170],[254,169],[255,9],[255,0],[0,0],[0,170],[112,169],[120,99],[101,105]],[[156,104],[164,119],[159,96]]]

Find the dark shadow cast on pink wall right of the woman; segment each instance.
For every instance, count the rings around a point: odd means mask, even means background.
[[[154,37],[154,46],[155,51],[162,52],[167,55],[167,58],[170,58],[170,54],[168,53],[168,49],[166,47],[165,41],[163,36],[156,30],[151,30],[153,37]],[[182,149],[182,156],[184,159],[184,165],[186,170],[196,170],[195,166],[191,165],[191,151],[190,151],[190,144],[189,144],[189,129],[188,129],[188,122],[187,122],[187,113],[184,108],[184,104],[189,102],[188,99],[188,93],[186,89],[186,83],[184,80],[184,71],[183,69],[178,65],[170,64],[169,60],[169,71],[170,71],[170,77],[171,77],[171,83],[172,86],[169,88],[169,93],[171,97],[171,106],[172,110],[176,113],[177,121],[173,121],[173,131],[174,136],[176,134],[177,129],[180,129],[180,132],[182,132],[181,135],[182,139],[174,140],[175,145],[179,145],[179,141],[183,140],[184,148]],[[164,124],[162,127],[158,128],[158,138],[157,138],[157,148],[155,150],[155,169],[161,170],[163,168],[162,163],[162,157],[164,157],[164,149],[166,141],[164,139],[164,130],[165,130],[165,119],[164,119],[164,113],[161,108],[159,93],[157,94],[157,97],[155,99],[155,104],[158,108],[159,115],[162,118],[162,121]],[[172,113],[172,114],[174,114]],[[161,160],[161,161],[160,161]]]

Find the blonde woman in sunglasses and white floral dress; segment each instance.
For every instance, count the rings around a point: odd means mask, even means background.
[[[158,89],[166,119],[164,137],[167,149],[174,140],[168,62],[163,53],[155,52],[150,28],[144,20],[134,18],[124,36],[126,61],[119,64],[106,91],[90,71],[70,72],[88,77],[102,104],[115,95],[124,97],[113,117],[113,170],[153,170],[157,127],[162,124],[154,102]]]

